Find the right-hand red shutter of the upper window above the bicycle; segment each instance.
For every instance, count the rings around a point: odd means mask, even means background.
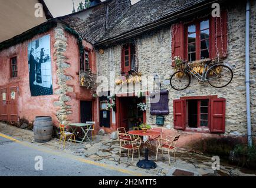
[[[228,11],[221,11],[221,17],[211,16],[211,59],[227,56]]]

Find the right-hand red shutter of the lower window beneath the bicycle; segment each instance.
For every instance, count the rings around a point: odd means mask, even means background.
[[[225,133],[226,99],[211,99],[211,132]]]

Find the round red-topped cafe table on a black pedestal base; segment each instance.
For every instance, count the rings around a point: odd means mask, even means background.
[[[156,139],[157,137],[160,137],[160,132],[156,132],[153,130],[147,130],[146,133],[144,133],[142,130],[131,130],[128,132],[130,135],[136,135],[136,136],[152,136],[153,139]],[[149,149],[147,147],[147,144],[152,141],[153,139],[150,139],[147,137],[147,141],[143,143],[143,146],[145,146],[145,159],[139,160],[137,162],[137,167],[140,167],[142,169],[155,169],[156,163],[153,162],[153,160],[149,160]]]

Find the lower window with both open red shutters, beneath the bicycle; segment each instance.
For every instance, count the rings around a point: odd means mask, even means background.
[[[173,100],[173,125],[182,130],[225,132],[226,99],[217,96],[184,97]],[[192,129],[191,129],[192,128]]]

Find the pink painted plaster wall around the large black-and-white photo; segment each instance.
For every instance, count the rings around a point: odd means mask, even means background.
[[[25,117],[29,122],[35,119],[35,116],[51,116],[54,125],[58,125],[57,117],[55,112],[58,110],[57,107],[53,106],[54,101],[57,101],[58,95],[46,95],[46,96],[35,96],[31,97],[29,89],[29,70],[28,70],[28,43],[38,39],[44,35],[50,35],[51,38],[51,65],[52,65],[52,87],[53,92],[58,89],[57,85],[57,65],[55,65],[54,56],[54,28],[48,32],[34,36],[34,38],[24,43],[12,46],[11,48],[4,49],[0,52],[0,88],[10,83],[18,83],[19,85],[19,96],[18,96],[18,116],[19,118]],[[68,46],[65,55],[70,63],[71,67],[66,69],[66,74],[72,77],[67,83],[73,86],[74,92],[67,93],[71,97],[71,101],[67,102],[67,105],[71,105],[73,113],[68,116],[70,122],[80,122],[80,100],[93,100],[91,97],[90,90],[81,88],[79,86],[79,52],[77,46],[77,40],[73,35],[65,32],[67,37]],[[88,42],[83,42],[84,46],[89,49],[93,49],[93,46]],[[17,56],[18,63],[18,78],[11,79],[11,67],[10,58]],[[92,53],[92,70],[96,73],[96,56]],[[97,100],[93,101],[93,115],[94,121],[97,122]],[[97,127],[97,125],[96,125]],[[97,129],[99,130],[99,128]]]

